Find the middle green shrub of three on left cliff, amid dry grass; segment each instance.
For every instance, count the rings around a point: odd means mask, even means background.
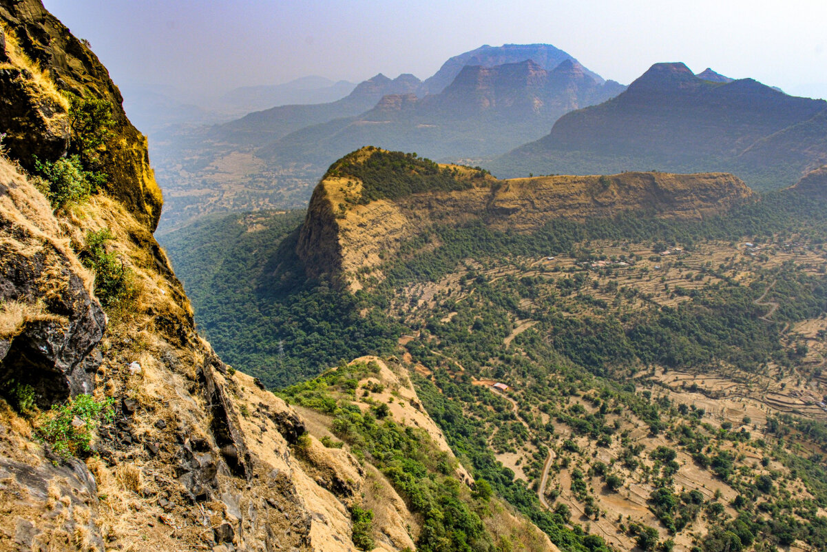
[[[134,275],[115,252],[107,252],[106,242],[115,237],[108,228],[86,234],[86,248],[80,261],[95,273],[95,295],[103,308],[122,306],[135,299]]]

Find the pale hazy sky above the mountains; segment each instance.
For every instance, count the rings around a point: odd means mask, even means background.
[[[827,0],[44,0],[123,87],[222,92],[309,74],[433,74],[545,42],[629,84],[658,61],[827,98]]]

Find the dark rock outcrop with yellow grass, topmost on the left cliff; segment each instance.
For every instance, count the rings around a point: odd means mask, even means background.
[[[2,0],[7,68],[0,74],[0,127],[10,129],[9,154],[32,166],[32,154],[54,160],[69,140],[69,104],[58,90],[108,100],[117,140],[102,151],[107,191],[155,229],[163,203],[149,166],[146,138],[131,125],[123,98],[98,57],[39,0]]]

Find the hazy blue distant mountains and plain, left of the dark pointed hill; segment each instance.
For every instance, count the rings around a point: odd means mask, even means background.
[[[366,144],[437,158],[493,157],[623,89],[554,46],[483,46],[447,60],[424,83],[377,74],[335,102],[184,129],[159,137],[163,147],[152,152],[170,190],[161,229],[216,209],[298,207],[332,161]]]

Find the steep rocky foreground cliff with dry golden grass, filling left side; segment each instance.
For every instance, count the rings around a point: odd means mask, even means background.
[[[199,338],[152,236],[146,141],[97,58],[36,0],[0,18],[0,550],[356,550],[364,501],[379,550],[412,548],[370,462]],[[55,209],[27,169],[76,139],[67,93],[107,100],[114,126],[101,190]]]

